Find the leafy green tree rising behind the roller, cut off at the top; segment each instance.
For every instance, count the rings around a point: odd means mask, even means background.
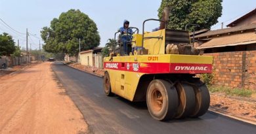
[[[223,0],[162,0],[158,8],[161,19],[164,7],[171,7],[169,29],[185,29],[186,24],[198,24],[200,29],[209,29],[217,24],[222,15]],[[191,29],[190,29],[191,30]]]

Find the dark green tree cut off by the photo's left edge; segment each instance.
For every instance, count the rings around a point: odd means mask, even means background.
[[[11,56],[15,51],[15,43],[8,33],[0,34],[0,56]]]

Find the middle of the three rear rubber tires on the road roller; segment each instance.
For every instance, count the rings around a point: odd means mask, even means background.
[[[192,114],[196,106],[196,97],[192,86],[178,82],[176,89],[179,97],[179,107],[175,118],[186,118]]]

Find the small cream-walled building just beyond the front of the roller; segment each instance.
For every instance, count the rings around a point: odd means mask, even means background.
[[[80,63],[81,65],[88,65],[91,67],[102,68],[103,59],[100,54],[102,47],[96,47],[91,50],[80,52]]]

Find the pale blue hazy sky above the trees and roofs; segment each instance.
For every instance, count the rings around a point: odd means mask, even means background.
[[[12,35],[15,42],[20,42],[26,48],[26,28],[28,48],[39,50],[39,41],[42,27],[49,27],[53,18],[58,18],[62,12],[71,8],[79,9],[87,14],[98,27],[100,46],[104,46],[108,39],[114,38],[114,33],[123,25],[123,20],[129,20],[132,27],[138,27],[142,33],[142,23],[148,18],[158,18],[158,8],[161,0],[0,0],[0,33]],[[223,0],[223,15],[219,23],[211,29],[220,29],[221,22],[228,25],[230,22],[256,8],[255,0]],[[146,31],[158,27],[158,22],[147,22]]]

